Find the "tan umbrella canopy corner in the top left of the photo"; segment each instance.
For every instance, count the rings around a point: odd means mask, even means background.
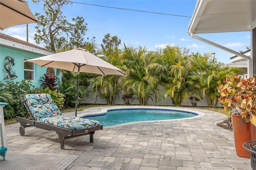
[[[0,0],[0,29],[21,24],[39,23],[31,13],[28,2],[23,0]]]

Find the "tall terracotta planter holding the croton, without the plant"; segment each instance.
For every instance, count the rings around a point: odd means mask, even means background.
[[[231,115],[234,132],[236,154],[243,158],[250,158],[250,152],[243,148],[245,142],[256,140],[256,127],[252,123],[246,123],[239,115]]]

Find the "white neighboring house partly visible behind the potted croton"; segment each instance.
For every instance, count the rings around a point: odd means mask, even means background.
[[[247,55],[247,56],[250,57],[251,50],[248,49],[247,51],[242,52],[242,54]],[[235,55],[233,57],[230,57],[230,62],[231,63],[228,64],[228,65],[230,65],[232,67],[240,67],[244,70],[244,75],[242,75],[242,78],[244,78],[244,79],[248,78],[248,74],[247,74],[248,60],[247,59],[244,59],[244,58],[242,58],[238,55]]]

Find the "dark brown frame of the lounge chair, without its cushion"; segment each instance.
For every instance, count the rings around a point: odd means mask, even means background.
[[[44,130],[54,130],[59,136],[60,148],[64,150],[64,140],[65,139],[75,138],[78,136],[84,136],[84,135],[90,134],[90,142],[93,142],[93,134],[95,133],[95,131],[103,129],[102,125],[98,125],[97,127],[84,128],[84,129],[79,129],[79,130],[70,130],[70,129],[66,129],[66,128],[62,128],[62,127],[58,127],[58,126],[54,126],[54,125],[49,125],[46,123],[41,123],[41,122],[35,120],[32,112],[30,111],[30,109],[26,103],[26,100],[24,99],[24,94],[21,94],[20,98],[22,100],[22,103],[25,105],[26,110],[28,111],[26,118],[16,116],[16,121],[18,121],[20,123],[20,135],[21,136],[25,135],[26,127],[34,126],[34,127],[41,128]],[[29,124],[29,125],[27,125],[27,124]]]

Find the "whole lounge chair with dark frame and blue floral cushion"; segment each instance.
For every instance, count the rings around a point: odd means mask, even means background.
[[[16,117],[21,136],[25,135],[25,128],[31,126],[54,130],[59,136],[60,148],[64,149],[65,139],[90,134],[90,142],[93,142],[95,131],[103,129],[98,121],[62,115],[49,94],[22,94],[20,98],[28,111],[26,118]]]

